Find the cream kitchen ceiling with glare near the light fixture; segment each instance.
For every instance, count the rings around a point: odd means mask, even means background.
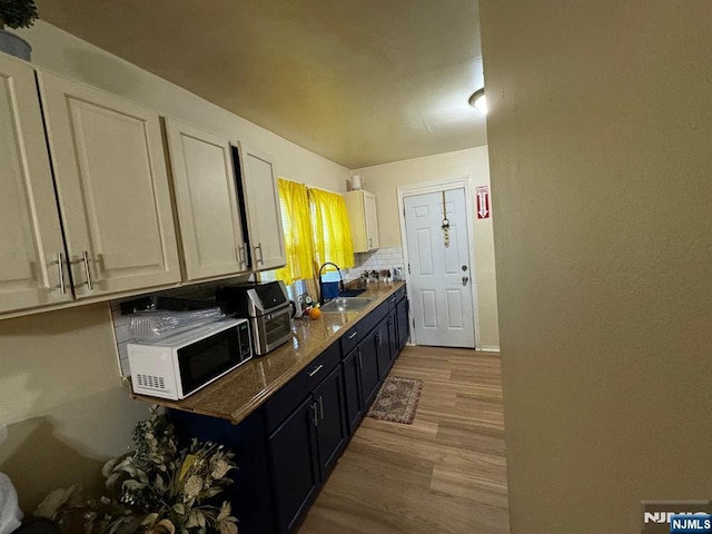
[[[40,17],[348,168],[486,144],[476,0],[38,0]]]

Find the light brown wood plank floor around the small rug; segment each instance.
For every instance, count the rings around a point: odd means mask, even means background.
[[[366,417],[299,534],[507,534],[498,354],[406,347],[413,425]]]

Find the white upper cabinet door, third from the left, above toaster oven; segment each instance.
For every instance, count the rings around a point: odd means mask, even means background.
[[[165,126],[188,279],[247,270],[229,142],[175,119]]]

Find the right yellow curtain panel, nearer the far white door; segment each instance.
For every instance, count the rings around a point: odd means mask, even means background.
[[[309,200],[317,264],[332,261],[340,268],[353,267],[354,244],[344,197],[322,189],[309,189]]]

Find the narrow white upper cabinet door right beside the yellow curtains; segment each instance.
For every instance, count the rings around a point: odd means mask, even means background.
[[[284,267],[285,236],[273,158],[238,142],[253,270]]]

